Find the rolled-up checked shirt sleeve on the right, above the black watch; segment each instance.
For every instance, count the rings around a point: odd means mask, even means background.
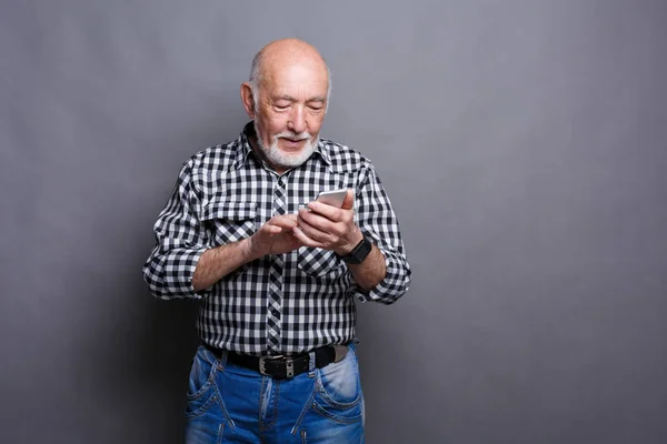
[[[370,163],[366,172],[356,195],[357,225],[385,255],[387,273],[370,291],[355,284],[352,292],[361,302],[392,304],[408,291],[412,272],[389,196]]]

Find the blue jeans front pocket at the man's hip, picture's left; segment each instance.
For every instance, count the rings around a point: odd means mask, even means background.
[[[200,345],[192,360],[188,379],[186,417],[192,418],[201,415],[216,401],[217,367],[218,359],[203,345]]]

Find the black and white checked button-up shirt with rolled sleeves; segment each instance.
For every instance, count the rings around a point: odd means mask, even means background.
[[[255,157],[248,124],[226,145],[203,150],[181,168],[155,224],[157,245],[143,279],[160,299],[201,300],[197,329],[219,349],[250,354],[302,353],[355,337],[355,297],[396,302],[410,284],[410,266],[396,214],[368,159],[328,140],[300,167],[279,175]],[[250,236],[276,214],[298,211],[320,191],[351,188],[355,222],[386,258],[387,274],[359,287],[332,251],[302,246],[267,255],[196,292],[192,275],[207,250]],[[279,337],[269,343],[268,335]]]

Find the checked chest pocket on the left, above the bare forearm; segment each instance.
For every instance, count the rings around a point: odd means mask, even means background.
[[[238,242],[255,233],[257,204],[253,202],[210,201],[200,214],[213,246]]]

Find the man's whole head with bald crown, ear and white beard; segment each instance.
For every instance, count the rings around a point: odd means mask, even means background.
[[[329,105],[331,79],[327,63],[310,44],[278,40],[252,60],[241,100],[255,119],[261,154],[276,170],[300,165],[312,153]]]

